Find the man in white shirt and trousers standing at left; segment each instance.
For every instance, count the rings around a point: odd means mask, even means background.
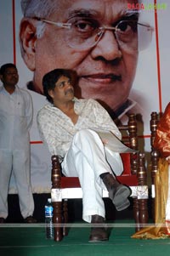
[[[1,66],[0,78],[0,223],[8,217],[8,185],[13,171],[20,200],[20,212],[26,223],[32,217],[30,137],[31,95],[17,86],[19,75],[14,64]]]

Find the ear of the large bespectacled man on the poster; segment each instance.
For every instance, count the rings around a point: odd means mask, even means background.
[[[31,71],[35,70],[36,43],[36,26],[31,19],[22,19],[20,22],[20,50],[23,60]]]

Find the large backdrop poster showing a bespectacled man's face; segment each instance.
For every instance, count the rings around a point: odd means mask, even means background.
[[[34,192],[51,187],[50,155],[36,118],[47,103],[42,77],[54,68],[77,71],[76,96],[99,100],[114,120],[137,113],[142,150],[150,151],[150,113],[169,101],[168,10],[163,0],[0,0],[0,65],[17,65],[19,86],[33,100]]]

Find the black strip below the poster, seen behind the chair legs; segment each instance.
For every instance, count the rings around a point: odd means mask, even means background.
[[[48,201],[50,194],[34,194],[35,211],[34,217],[37,219],[38,223],[44,222],[44,206]],[[150,198],[150,196],[149,196]],[[114,219],[133,219],[133,199],[130,198],[131,205],[129,208],[117,212],[116,208],[112,204],[109,198],[104,198],[105,202],[105,213],[106,221]],[[148,202],[149,218],[151,218],[151,201]],[[82,199],[70,199],[68,200],[68,212],[69,221],[79,221],[82,220]],[[22,223],[23,218],[20,213],[20,205],[18,195],[8,195],[8,218],[7,223]]]

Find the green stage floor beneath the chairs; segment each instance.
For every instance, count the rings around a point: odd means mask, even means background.
[[[131,236],[134,232],[133,220],[117,220],[109,223],[111,235],[108,242],[89,243],[90,227],[84,222],[71,224],[69,235],[62,242],[45,238],[44,224],[11,224],[0,226],[1,256],[158,256],[169,255],[170,240],[138,240]]]

